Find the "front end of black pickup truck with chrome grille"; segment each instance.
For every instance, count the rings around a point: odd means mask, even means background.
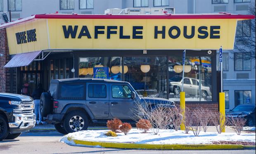
[[[0,93],[0,141],[12,140],[36,124],[33,98]]]

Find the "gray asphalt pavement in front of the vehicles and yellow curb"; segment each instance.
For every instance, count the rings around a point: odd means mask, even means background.
[[[254,150],[133,150],[74,147],[59,142],[58,132],[22,133],[16,140],[0,141],[0,154],[255,154]]]

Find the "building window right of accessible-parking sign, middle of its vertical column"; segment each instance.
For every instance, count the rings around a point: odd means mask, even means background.
[[[249,52],[234,53],[235,71],[251,71],[251,57]]]

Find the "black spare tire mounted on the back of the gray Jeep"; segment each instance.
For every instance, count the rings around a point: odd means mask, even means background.
[[[40,97],[40,112],[43,117],[46,117],[48,114],[50,114],[51,111],[51,95],[49,92],[43,92]]]

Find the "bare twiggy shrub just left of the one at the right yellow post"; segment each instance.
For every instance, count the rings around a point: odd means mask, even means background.
[[[210,125],[210,121],[211,121],[211,117],[212,117],[212,111],[209,109],[201,109],[201,119],[200,119],[200,123],[201,126],[203,127],[204,132],[207,131],[209,125]]]

